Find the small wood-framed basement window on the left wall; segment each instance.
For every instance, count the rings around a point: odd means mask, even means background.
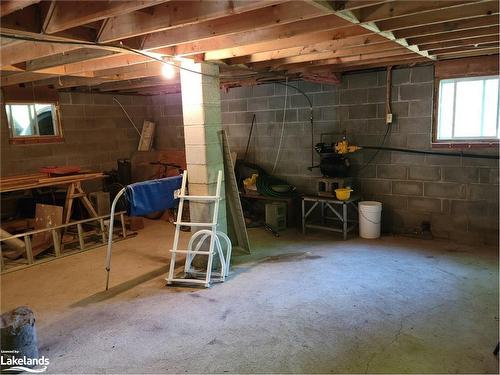
[[[54,103],[5,104],[11,143],[62,140],[58,107]]]

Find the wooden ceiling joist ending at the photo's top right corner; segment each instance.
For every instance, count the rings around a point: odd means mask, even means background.
[[[377,26],[384,31],[399,30],[409,27],[431,25],[441,22],[466,20],[472,17],[484,17],[498,14],[498,1],[482,1],[469,5],[455,6],[446,11],[426,12],[419,15],[398,17],[377,22]]]

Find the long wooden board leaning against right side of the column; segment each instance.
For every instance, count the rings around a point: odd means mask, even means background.
[[[224,187],[226,190],[227,202],[227,230],[231,239],[233,249],[250,254],[250,241],[241,207],[238,183],[234,173],[234,163],[231,157],[231,150],[224,130],[221,131],[222,148],[224,158]]]

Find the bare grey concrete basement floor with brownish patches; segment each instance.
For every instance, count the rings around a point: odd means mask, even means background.
[[[51,373],[498,373],[497,249],[253,229],[226,283],[172,288],[172,233],[117,244],[108,292],[103,248],[6,274],[2,311]]]

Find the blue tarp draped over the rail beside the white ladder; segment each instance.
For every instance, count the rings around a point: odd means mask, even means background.
[[[126,187],[127,215],[143,216],[177,206],[174,192],[181,188],[182,176],[137,182]]]

